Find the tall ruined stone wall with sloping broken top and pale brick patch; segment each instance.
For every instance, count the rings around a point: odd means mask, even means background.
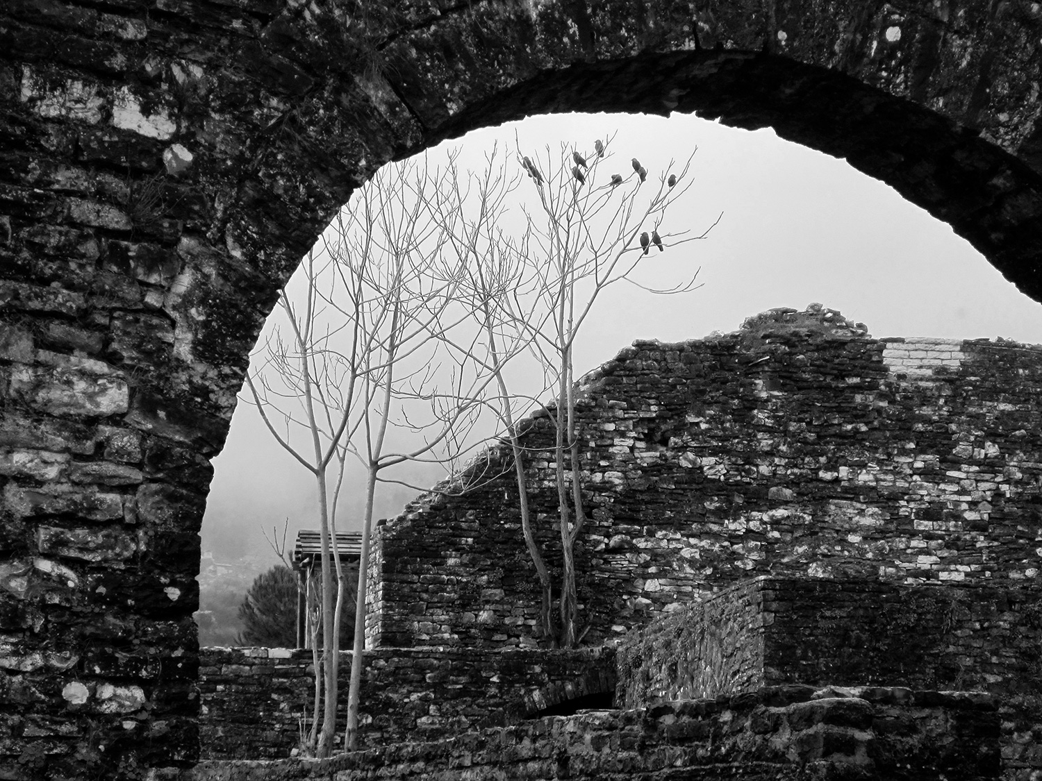
[[[873,339],[827,310],[640,342],[578,409],[589,643],[760,574],[1012,587],[1042,562],[1042,351]],[[554,565],[546,418],[525,446]],[[490,479],[500,475],[495,479]],[[377,645],[534,644],[540,595],[504,450],[379,527]],[[458,488],[456,485],[454,488]]]

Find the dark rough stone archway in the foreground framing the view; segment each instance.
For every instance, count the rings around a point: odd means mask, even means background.
[[[1042,300],[1040,48],[1023,0],[5,0],[5,777],[193,762],[209,459],[276,291],[379,166],[538,112],[770,125]]]

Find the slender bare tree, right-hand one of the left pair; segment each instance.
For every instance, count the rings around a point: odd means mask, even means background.
[[[446,262],[452,241],[435,218],[432,204],[457,197],[454,167],[430,169],[408,160],[386,167],[359,193],[326,242],[343,300],[328,298],[351,320],[361,341],[361,384],[349,450],[366,470],[362,560],[355,613],[354,653],[348,691],[345,747],[357,746],[358,691],[365,653],[366,571],[377,484],[382,473],[410,461],[453,463],[481,417],[493,377],[469,353],[444,345],[468,323],[460,308],[463,263]],[[480,297],[476,299],[480,303]],[[411,444],[395,448],[392,429]]]

